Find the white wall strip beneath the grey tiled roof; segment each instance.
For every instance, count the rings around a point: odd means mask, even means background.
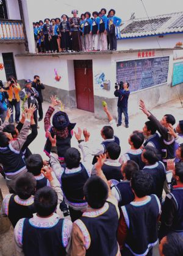
[[[158,49],[173,48],[177,42],[183,42],[183,34],[164,35],[159,37],[143,37],[131,39],[119,39],[118,50],[122,49]]]

